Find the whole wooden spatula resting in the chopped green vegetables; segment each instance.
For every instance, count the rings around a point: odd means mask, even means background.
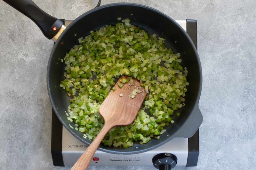
[[[120,80],[123,78],[129,80],[128,76],[121,76],[114,86],[116,90],[111,90],[100,106],[99,112],[105,121],[104,127],[83,155],[76,161],[71,170],[86,170],[108,131],[116,126],[131,124],[138,114],[147,93],[142,86],[140,87],[140,81],[135,78],[132,78],[133,83],[129,81],[120,88],[118,84],[121,83]]]

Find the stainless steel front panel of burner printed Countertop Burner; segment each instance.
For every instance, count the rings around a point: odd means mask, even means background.
[[[87,145],[76,139],[62,127],[62,157],[65,166],[73,166],[87,149]],[[186,166],[188,159],[188,138],[174,138],[170,142],[148,152],[134,155],[117,155],[96,151],[90,165],[96,166],[149,166],[152,158],[159,153],[172,153],[178,158],[177,166]]]

